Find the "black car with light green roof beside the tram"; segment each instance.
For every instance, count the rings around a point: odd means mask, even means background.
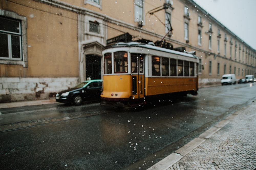
[[[57,93],[55,99],[60,103],[81,105],[86,100],[99,100],[101,88],[102,80],[88,80]]]

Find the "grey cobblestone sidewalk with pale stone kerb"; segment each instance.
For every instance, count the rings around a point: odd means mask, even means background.
[[[147,170],[256,169],[256,100]]]

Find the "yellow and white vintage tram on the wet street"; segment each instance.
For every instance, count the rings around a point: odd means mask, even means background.
[[[196,55],[131,40],[125,33],[107,41],[102,105],[132,106],[177,92],[197,94]]]

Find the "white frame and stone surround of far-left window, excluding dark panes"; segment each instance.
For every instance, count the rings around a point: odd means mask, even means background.
[[[10,20],[19,20],[20,22],[20,33],[15,34],[8,31],[1,31],[2,34],[6,34],[8,36],[8,50],[9,50],[9,57],[0,57],[0,64],[14,64],[14,65],[23,65],[23,67],[28,67],[28,54],[27,54],[27,17],[20,16],[14,12],[6,11],[0,9],[0,16],[1,17],[8,17]],[[11,49],[11,36],[19,36],[20,41],[20,58],[12,58],[12,49]]]

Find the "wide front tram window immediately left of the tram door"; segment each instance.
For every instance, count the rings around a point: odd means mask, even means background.
[[[127,52],[114,52],[114,73],[127,73]]]

